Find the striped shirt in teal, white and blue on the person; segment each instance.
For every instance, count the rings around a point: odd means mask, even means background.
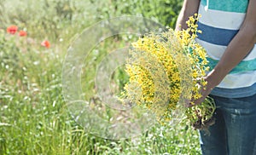
[[[213,68],[236,36],[247,12],[249,0],[201,0],[196,41],[206,50]],[[211,92],[212,95],[239,98],[256,94],[256,46]]]

